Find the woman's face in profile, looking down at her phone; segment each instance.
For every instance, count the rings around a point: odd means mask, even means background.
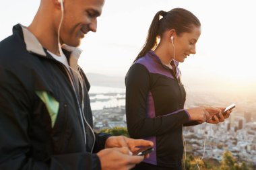
[[[173,44],[175,46],[175,60],[184,62],[185,58],[190,54],[195,54],[195,44],[201,34],[201,27],[193,28],[192,32],[184,32],[179,36],[175,36]]]

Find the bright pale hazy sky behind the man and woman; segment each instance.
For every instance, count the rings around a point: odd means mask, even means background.
[[[15,24],[28,26],[40,0],[3,1],[0,40]],[[201,22],[197,54],[179,67],[183,81],[195,87],[251,92],[256,88],[256,16],[254,0],[105,0],[96,33],[79,48],[86,73],[125,77],[143,46],[157,11],[183,7]],[[256,93],[255,93],[256,94]]]

